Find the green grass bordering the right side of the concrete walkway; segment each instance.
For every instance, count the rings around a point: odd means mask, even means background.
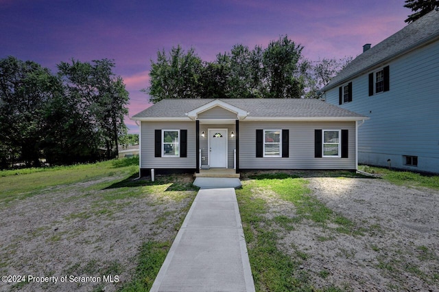
[[[280,200],[294,203],[298,208],[296,217],[275,216],[270,219],[265,216],[267,202],[255,195],[265,191],[274,192]],[[335,222],[344,228],[344,232],[355,233],[355,225],[351,221],[313,199],[305,179],[287,174],[253,176],[252,180],[244,181],[243,187],[236,193],[256,291],[343,291],[332,285],[323,290],[315,289],[308,272],[300,269],[307,255],[296,252],[297,256],[292,257],[281,251],[276,226],[289,230],[298,221],[307,218],[316,224]],[[335,229],[335,232],[339,230]]]

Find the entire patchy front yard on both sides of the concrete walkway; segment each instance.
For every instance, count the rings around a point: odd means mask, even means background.
[[[197,189],[191,175],[152,183],[136,172],[136,159],[0,172],[1,275],[76,277],[0,291],[148,291]],[[438,177],[429,188],[389,180],[244,175],[237,199],[257,291],[439,291]]]

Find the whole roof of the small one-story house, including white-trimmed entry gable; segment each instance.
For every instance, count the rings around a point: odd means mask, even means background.
[[[365,115],[321,100],[298,98],[167,99],[137,113],[132,120],[190,121],[215,106],[237,113],[245,121],[368,120]]]

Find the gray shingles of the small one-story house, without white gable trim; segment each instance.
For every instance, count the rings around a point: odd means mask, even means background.
[[[197,109],[214,99],[167,99],[134,115],[134,120],[148,117],[186,117],[185,113]],[[366,117],[314,99],[230,98],[221,99],[247,111],[248,117]]]

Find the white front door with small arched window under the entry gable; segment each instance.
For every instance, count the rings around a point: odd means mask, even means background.
[[[209,128],[209,166],[227,168],[226,128]]]

